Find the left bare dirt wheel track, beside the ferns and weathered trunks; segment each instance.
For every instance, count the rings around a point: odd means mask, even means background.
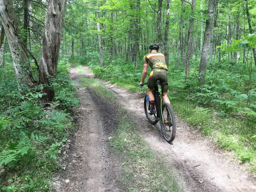
[[[70,76],[78,81],[80,77],[94,77],[88,71],[77,74],[73,67]],[[104,106],[105,102],[100,101],[89,87],[79,87],[77,95],[80,100],[79,130],[63,154],[66,170],[53,179],[53,191],[123,191],[116,181],[122,171],[106,144],[115,129],[115,119],[108,116],[113,114],[113,108]],[[99,112],[100,108],[106,108],[105,114]]]

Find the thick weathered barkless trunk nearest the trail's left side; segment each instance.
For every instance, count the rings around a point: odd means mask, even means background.
[[[67,0],[48,0],[45,17],[45,29],[39,66],[39,83],[46,85],[43,92],[45,98],[52,101],[55,88],[51,86],[57,74],[57,64],[60,49],[61,30]]]

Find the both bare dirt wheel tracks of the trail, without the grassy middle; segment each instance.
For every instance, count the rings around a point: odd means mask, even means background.
[[[71,79],[79,80],[82,76],[94,78],[87,67],[83,69],[85,74],[77,74],[76,69],[71,68]],[[102,80],[100,82],[131,112],[132,121],[136,123],[135,131],[157,156],[171,165],[184,191],[256,191],[256,179],[247,173],[246,168],[226,157],[225,152],[214,147],[196,128],[176,118],[176,137],[172,144],[168,144],[162,137],[160,125],[151,125],[145,117],[144,94],[132,93]],[[108,108],[111,114],[115,108],[111,103],[102,104],[92,92],[89,88],[79,88],[77,91],[82,111],[81,118],[78,118],[80,128],[69,150],[67,162],[70,166],[56,181],[61,183],[59,191],[126,190],[116,182],[121,168],[113,161],[114,157],[106,145],[116,124],[115,116],[109,116],[106,111],[98,111],[99,108]],[[110,121],[105,123],[105,118],[110,118]],[[102,124],[108,124],[108,129],[104,130]]]

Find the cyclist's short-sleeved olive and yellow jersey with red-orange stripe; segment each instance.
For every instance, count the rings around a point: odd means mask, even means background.
[[[165,56],[158,52],[151,52],[144,56],[143,64],[149,64],[151,69],[159,68],[166,69],[168,71],[167,65],[165,64]]]

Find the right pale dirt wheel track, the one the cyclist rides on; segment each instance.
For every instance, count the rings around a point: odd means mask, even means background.
[[[93,75],[87,67],[84,70],[87,75]],[[197,129],[177,118],[175,140],[168,144],[162,137],[160,125],[151,125],[146,120],[144,94],[101,82],[132,112],[137,131],[148,145],[160,156],[165,156],[176,169],[179,180],[185,183],[185,191],[256,191],[256,179],[246,168],[225,157],[225,153],[215,148]]]

